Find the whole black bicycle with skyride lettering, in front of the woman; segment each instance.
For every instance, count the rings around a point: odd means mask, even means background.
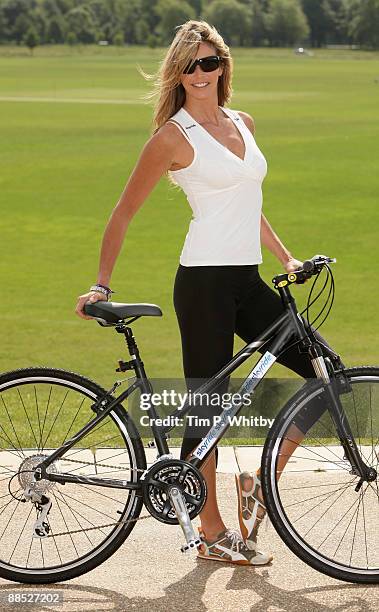
[[[315,378],[287,401],[264,445],[262,489],[268,515],[285,544],[311,567],[340,580],[378,583],[379,436],[373,404],[379,368],[345,368],[339,355],[315,341],[309,308],[330,281],[319,314],[330,302],[323,320],[328,316],[334,296],[332,262],[318,255],[295,272],[275,276],[283,314],[197,392],[210,393],[257,350],[263,355],[244,379],[239,397],[254,392],[292,340],[308,355]],[[323,270],[324,286],[311,301]],[[290,286],[312,276],[305,319]],[[140,434],[123,402],[137,389],[151,396],[130,325],[141,316],[161,316],[161,309],[97,302],[85,311],[124,335],[130,360],[119,361],[117,371],[132,370],[134,382],[125,378],[106,391],[58,369],[26,368],[0,376],[0,576],[8,580],[50,583],[79,576],[109,558],[136,521],[150,516],[179,524],[185,536],[182,551],[196,550],[201,537],[191,521],[206,500],[200,469],[242,407],[236,402],[224,408],[192,456],[181,461],[169,452],[172,427],[157,425],[150,403],[147,414],[158,454],[147,466]],[[128,388],[115,395],[123,383]],[[317,418],[295,444],[294,423],[315,402]],[[180,416],[190,408],[187,402]],[[293,470],[290,454],[304,470]],[[143,506],[147,517],[140,517]]]

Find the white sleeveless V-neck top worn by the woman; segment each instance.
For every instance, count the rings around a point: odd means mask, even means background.
[[[169,170],[193,211],[180,255],[183,266],[262,262],[261,185],[267,163],[238,112],[219,108],[232,119],[244,140],[243,160],[211,136],[184,108],[169,119],[194,149],[189,166]]]

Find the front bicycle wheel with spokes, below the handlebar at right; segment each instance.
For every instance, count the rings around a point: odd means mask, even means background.
[[[346,370],[341,403],[364,462],[378,471],[379,368]],[[294,421],[315,403],[320,381],[306,383],[279,413],[262,455],[269,517],[285,544],[314,569],[348,582],[379,582],[378,480],[356,488],[328,410],[299,442]],[[323,404],[322,404],[323,403]]]

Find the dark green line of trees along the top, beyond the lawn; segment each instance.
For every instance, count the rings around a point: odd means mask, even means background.
[[[234,46],[379,48],[379,0],[0,0],[0,44],[155,47],[188,19]]]

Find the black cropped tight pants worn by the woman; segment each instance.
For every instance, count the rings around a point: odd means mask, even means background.
[[[234,334],[246,343],[252,342],[283,312],[278,292],[260,277],[258,265],[182,266],[179,264],[174,283],[174,307],[178,319],[187,389],[195,391],[204,379],[211,378],[233,357]],[[315,332],[326,349],[328,343]],[[290,344],[293,339],[288,342]],[[266,349],[263,347],[261,352]],[[278,363],[304,378],[314,378],[309,357],[295,345],[284,351]],[[221,383],[217,393],[227,391],[229,381]],[[312,410],[300,416],[296,425],[303,432],[324,412],[315,401]],[[201,405],[189,414],[212,418],[220,414],[221,405]],[[186,426],[181,448],[184,459],[201,441],[209,427]],[[195,433],[194,433],[195,432]]]

